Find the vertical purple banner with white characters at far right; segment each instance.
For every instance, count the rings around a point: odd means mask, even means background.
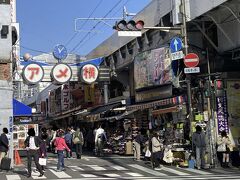
[[[218,134],[221,134],[222,131],[226,131],[226,133],[229,133],[226,93],[224,94],[224,96],[216,98],[216,106]]]

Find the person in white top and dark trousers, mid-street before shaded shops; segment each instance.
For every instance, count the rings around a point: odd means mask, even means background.
[[[101,125],[99,125],[98,129],[96,130],[95,134],[95,147],[96,147],[96,154],[99,156],[103,156],[103,143],[104,141],[107,141],[107,136],[102,128]]]

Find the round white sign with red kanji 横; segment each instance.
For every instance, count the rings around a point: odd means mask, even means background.
[[[94,83],[98,78],[98,68],[93,64],[85,64],[81,69],[81,79],[87,84]]]

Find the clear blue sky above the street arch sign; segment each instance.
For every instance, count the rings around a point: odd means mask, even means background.
[[[34,56],[52,52],[56,44],[66,45],[69,52],[86,55],[110,37],[114,30],[99,21],[78,20],[78,31],[75,31],[76,18],[119,18],[123,15],[123,6],[129,13],[137,13],[150,1],[17,0],[21,55],[26,52]],[[115,23],[105,22],[110,25]]]

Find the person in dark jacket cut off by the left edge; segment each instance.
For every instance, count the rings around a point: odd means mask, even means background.
[[[3,128],[3,133],[0,136],[0,164],[1,164],[2,158],[4,158],[7,155],[7,152],[9,149],[7,134],[8,134],[8,129]]]

